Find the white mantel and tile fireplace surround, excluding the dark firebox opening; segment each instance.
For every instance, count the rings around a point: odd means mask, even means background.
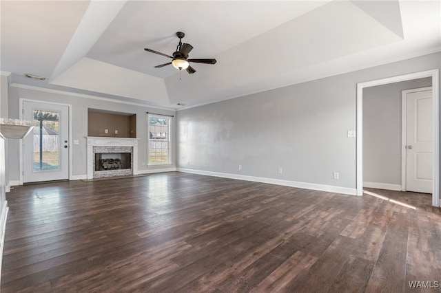
[[[138,174],[137,138],[99,138],[88,136],[88,179]],[[95,171],[95,153],[132,153],[132,168],[122,170]]]

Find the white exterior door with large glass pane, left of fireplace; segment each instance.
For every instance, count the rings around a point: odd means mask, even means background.
[[[37,121],[23,139],[23,183],[69,178],[69,107],[23,101],[23,119]]]

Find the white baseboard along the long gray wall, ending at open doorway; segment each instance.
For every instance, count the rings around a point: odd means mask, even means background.
[[[290,187],[297,187],[297,188],[312,189],[314,191],[327,191],[330,193],[343,193],[343,194],[347,194],[347,195],[357,195],[356,188],[330,186],[330,185],[314,184],[314,183],[306,183],[306,182],[296,182],[296,181],[290,181],[290,180],[280,180],[280,179],[254,177],[254,176],[237,175],[237,174],[229,174],[229,173],[219,173],[219,172],[211,172],[211,171],[200,171],[200,170],[183,169],[183,168],[176,168],[176,171],[185,172],[185,173],[194,173],[194,174],[199,174],[199,175],[223,177],[223,178],[229,178],[229,179],[246,180],[246,181],[253,181],[253,182],[261,182],[261,183],[276,184],[276,185],[283,185],[283,186],[290,186]]]

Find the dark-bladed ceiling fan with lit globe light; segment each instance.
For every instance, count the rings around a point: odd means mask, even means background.
[[[179,38],[178,46],[176,47],[176,52],[173,53],[173,56],[163,54],[161,52],[157,52],[151,49],[144,48],[147,52],[152,52],[154,54],[159,54],[168,58],[172,58],[172,62],[164,63],[161,65],[155,66],[155,68],[164,67],[172,64],[174,68],[179,69],[187,69],[189,74],[194,74],[196,70],[189,65],[189,62],[193,63],[203,63],[203,64],[216,64],[216,59],[189,59],[188,54],[192,51],[193,46],[187,43],[182,43],[182,38],[185,36],[183,32],[176,32],[176,36]]]

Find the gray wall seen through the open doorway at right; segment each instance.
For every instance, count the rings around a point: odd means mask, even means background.
[[[420,78],[364,89],[364,182],[401,185],[401,91],[431,85],[431,78]]]

